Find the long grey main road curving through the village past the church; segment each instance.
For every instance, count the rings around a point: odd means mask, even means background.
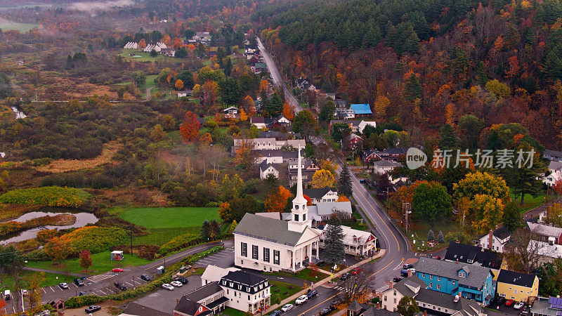
[[[257,41],[259,50],[261,51],[261,56],[266,62],[271,79],[273,79],[273,84],[283,88],[285,91],[285,98],[289,101],[289,103],[292,103],[292,105],[296,107],[296,112],[300,112],[302,107],[292,94],[292,91],[287,88],[282,75],[277,69],[277,65],[275,65],[275,61],[271,58],[270,53],[263,46],[261,40],[258,38]],[[314,143],[318,145],[319,141],[322,141],[322,138],[317,138],[317,141]],[[340,168],[343,163],[344,162],[339,161]],[[391,281],[393,277],[400,275],[403,260],[405,261],[409,258],[413,258],[414,252],[411,251],[410,243],[407,242],[405,236],[403,235],[403,231],[396,227],[393,220],[389,218],[386,211],[384,211],[382,206],[374,199],[374,197],[372,197],[370,192],[365,189],[365,186],[360,183],[359,179],[355,177],[353,173],[351,173],[351,178],[353,181],[353,198],[355,199],[355,202],[357,202],[358,206],[360,206],[363,213],[365,213],[365,216],[367,216],[367,218],[369,218],[371,223],[375,226],[376,229],[374,234],[379,239],[381,248],[386,249],[386,254],[380,258],[379,261],[367,264],[368,267],[365,267],[372,270],[371,277],[374,277],[374,288],[381,289],[384,287],[386,282]],[[339,294],[339,291],[334,289],[334,296],[337,294]],[[318,312],[318,310],[327,307],[334,296],[325,299],[325,301],[322,301],[322,303],[319,303],[318,305],[311,306],[304,312],[299,310],[300,313],[289,312],[289,314],[313,315],[315,312]]]

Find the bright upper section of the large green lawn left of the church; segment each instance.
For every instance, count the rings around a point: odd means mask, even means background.
[[[120,216],[145,228],[200,227],[206,219],[220,219],[218,207],[141,207],[126,210]]]

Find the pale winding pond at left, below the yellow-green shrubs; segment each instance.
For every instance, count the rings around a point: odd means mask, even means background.
[[[30,220],[33,218],[39,218],[43,216],[55,216],[58,214],[72,214],[73,216],[76,216],[76,221],[72,225],[65,225],[65,226],[46,225],[38,228],[31,228],[29,230],[19,232],[18,234],[13,235],[8,239],[0,240],[0,244],[9,244],[11,242],[22,242],[27,239],[35,238],[37,237],[37,232],[39,232],[39,230],[44,230],[44,229],[64,230],[67,228],[80,228],[88,224],[96,223],[98,221],[98,218],[94,216],[92,213],[81,212],[78,209],[56,208],[56,207],[44,207],[37,211],[25,213],[22,216],[15,218],[13,220],[16,222],[23,223],[26,220]]]

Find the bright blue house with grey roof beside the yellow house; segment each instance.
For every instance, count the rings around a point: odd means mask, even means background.
[[[479,265],[420,258],[416,275],[428,289],[460,294],[483,305],[488,305],[495,294],[492,270]]]

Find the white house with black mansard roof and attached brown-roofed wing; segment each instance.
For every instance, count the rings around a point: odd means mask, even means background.
[[[215,315],[227,307],[254,314],[271,305],[268,279],[240,270],[209,267],[207,279],[220,276],[218,282],[209,282],[182,296],[174,316]]]

